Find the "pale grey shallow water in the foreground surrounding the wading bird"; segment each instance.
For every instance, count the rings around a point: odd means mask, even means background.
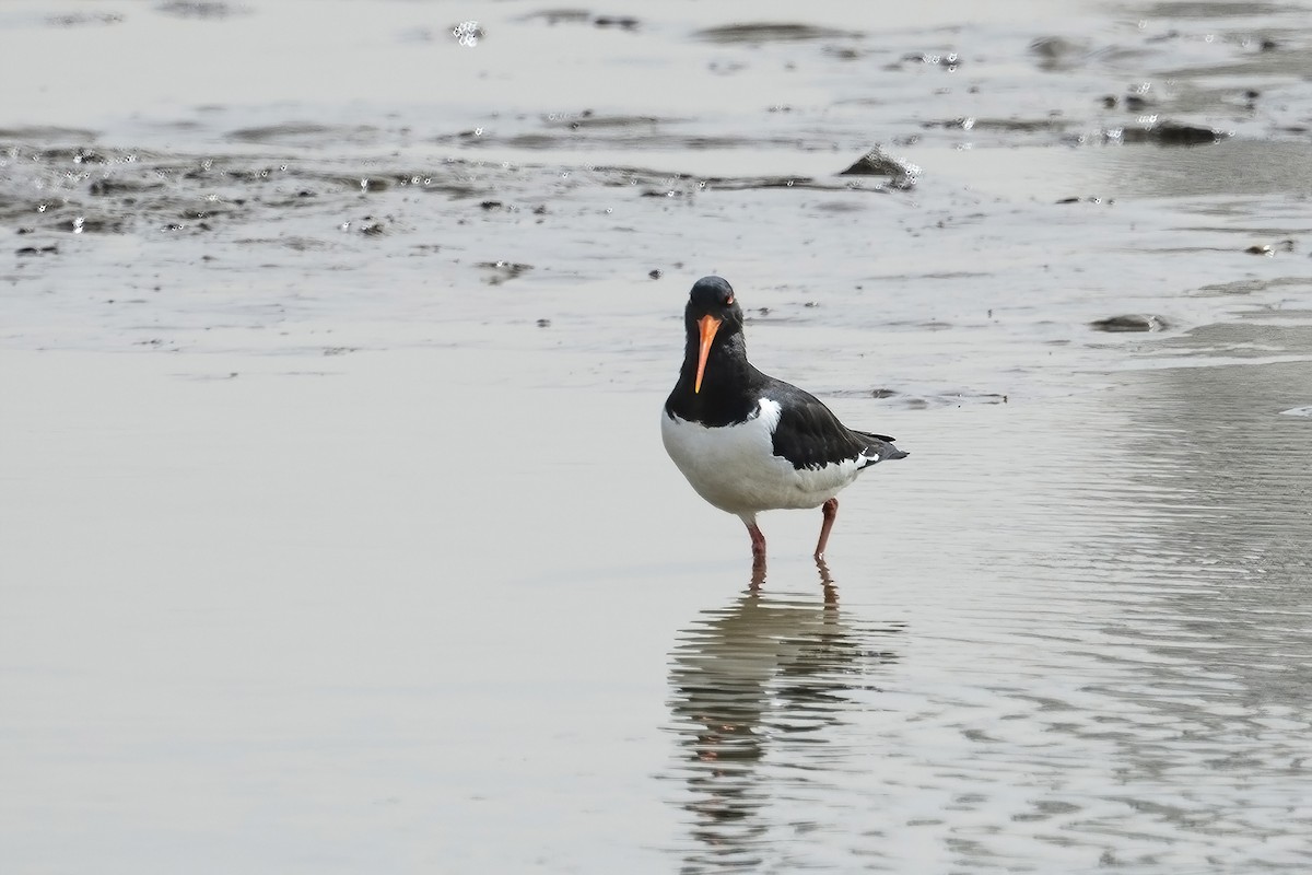
[[[832,590],[774,514],[750,593],[643,394],[304,361],[5,354],[25,868],[1307,865],[1307,363],[890,411]]]

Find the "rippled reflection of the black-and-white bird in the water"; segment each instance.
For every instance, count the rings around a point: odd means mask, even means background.
[[[745,593],[680,635],[670,728],[680,736],[677,777],[690,791],[677,803],[691,815],[685,871],[760,863],[771,828],[762,808],[834,757],[841,765],[841,752],[816,744],[829,741],[858,697],[878,694],[871,674],[897,659],[887,639],[904,626],[841,615],[823,560],[817,569],[823,602],[765,592],[761,564]]]

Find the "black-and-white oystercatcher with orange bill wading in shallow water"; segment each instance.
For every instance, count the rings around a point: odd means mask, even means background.
[[[665,400],[665,451],[699,496],[736,514],[764,568],[762,510],[820,508],[816,559],[838,514],[837,492],[886,459],[908,455],[883,434],[854,432],[796,386],[747,361],[743,310],[720,277],[693,285],[684,310],[687,346]]]

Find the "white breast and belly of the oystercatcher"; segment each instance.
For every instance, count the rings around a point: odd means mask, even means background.
[[[707,428],[661,412],[665,451],[708,502],[735,514],[819,508],[857,479],[857,459],[795,468],[774,455],[779,405],[762,397],[745,422]]]

